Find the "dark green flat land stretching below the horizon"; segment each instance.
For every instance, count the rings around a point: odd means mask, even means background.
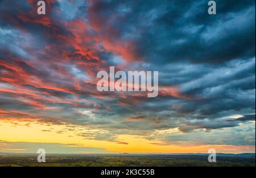
[[[97,155],[97,154],[48,154],[46,163],[37,162],[36,154],[0,154],[1,166],[26,167],[134,167],[134,166],[249,166],[255,167],[255,154],[217,154],[217,163],[209,163],[207,154],[183,155]]]

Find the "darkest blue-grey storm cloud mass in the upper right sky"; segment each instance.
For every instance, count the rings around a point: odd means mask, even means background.
[[[118,29],[121,38],[135,39],[138,59],[152,63],[220,64],[254,57],[255,2],[217,1],[217,15],[208,15],[207,3],[97,1],[89,15],[103,27]]]

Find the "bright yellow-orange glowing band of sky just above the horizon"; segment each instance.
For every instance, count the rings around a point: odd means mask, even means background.
[[[69,130],[68,128],[75,128]],[[194,144],[184,146],[183,144],[162,144],[157,140],[148,140],[141,135],[118,135],[115,142],[108,140],[86,139],[80,136],[83,131],[94,132],[102,131],[90,129],[79,125],[52,125],[31,121],[0,121],[0,140],[5,142],[29,142],[29,143],[60,143],[79,145],[80,147],[103,148],[107,152],[116,153],[204,153],[207,154],[209,148],[215,148],[221,153],[242,153],[255,152],[255,146],[232,146],[232,145],[206,145]],[[127,144],[124,144],[127,143]],[[0,151],[6,149],[1,149]],[[24,148],[8,148],[9,151],[24,151]],[[25,148],[26,150],[26,148]],[[93,153],[93,152],[90,152]]]

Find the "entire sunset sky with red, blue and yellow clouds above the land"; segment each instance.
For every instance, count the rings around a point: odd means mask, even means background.
[[[255,152],[255,1],[0,0],[0,152]],[[97,73],[158,71],[158,97]]]

